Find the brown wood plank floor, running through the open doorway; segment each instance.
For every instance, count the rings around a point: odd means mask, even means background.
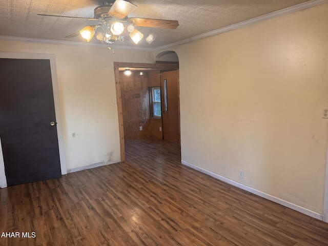
[[[0,190],[0,245],[328,245],[328,223],[127,142],[127,161]],[[35,232],[23,238],[22,232]]]

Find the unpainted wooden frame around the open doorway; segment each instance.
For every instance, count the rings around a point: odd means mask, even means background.
[[[114,76],[116,88],[116,102],[117,102],[117,115],[118,115],[118,129],[119,129],[119,147],[121,161],[125,161],[125,140],[124,140],[124,119],[122,109],[121,86],[119,84],[119,68],[144,68],[150,70],[166,70],[166,69],[179,69],[179,64],[164,64],[164,63],[119,63],[114,62]]]

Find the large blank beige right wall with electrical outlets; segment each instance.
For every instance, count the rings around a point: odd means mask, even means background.
[[[324,4],[170,49],[182,161],[322,215],[327,13]]]

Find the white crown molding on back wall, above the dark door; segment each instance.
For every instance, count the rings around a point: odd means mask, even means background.
[[[96,43],[84,43],[84,42],[74,42],[74,41],[66,41],[66,40],[29,38],[29,37],[14,37],[14,36],[2,36],[2,35],[0,35],[0,40],[39,43],[39,44],[52,44],[52,45],[73,45],[73,46],[101,47],[101,48],[110,46],[112,49],[154,51],[153,48],[150,49],[150,48],[142,48],[142,47],[134,47],[134,46],[111,45],[111,44],[104,44],[104,43],[96,44]]]

